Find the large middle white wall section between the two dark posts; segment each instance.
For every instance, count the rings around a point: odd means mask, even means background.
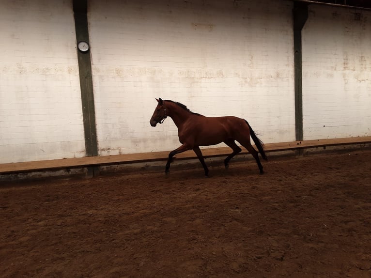
[[[245,118],[264,142],[295,139],[291,1],[89,2],[99,153],[179,146],[155,97]]]

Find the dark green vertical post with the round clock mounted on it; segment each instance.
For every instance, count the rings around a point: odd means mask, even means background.
[[[73,0],[76,42],[89,44],[88,3],[87,0]],[[78,70],[80,76],[82,117],[85,133],[85,152],[87,156],[98,155],[98,144],[95,126],[95,108],[93,95],[93,77],[90,49],[82,52],[77,49]],[[95,176],[99,167],[88,167],[88,175]]]

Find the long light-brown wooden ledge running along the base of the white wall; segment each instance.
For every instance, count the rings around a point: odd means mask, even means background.
[[[337,139],[318,139],[318,140],[303,140],[292,142],[269,143],[264,145],[266,152],[287,151],[303,148],[325,147],[346,144],[364,144],[371,143],[371,136],[368,137],[352,137],[352,138],[337,138]],[[255,147],[255,146],[254,146]],[[202,154],[205,157],[227,155],[231,153],[229,147],[202,149]],[[247,154],[243,149],[241,154]],[[156,160],[166,160],[169,152],[153,152],[142,154],[119,154],[119,155],[104,155],[104,156],[86,156],[77,158],[52,159],[30,162],[4,163],[0,164],[0,173],[15,173],[37,170],[65,169],[78,168],[86,166],[103,166],[110,164],[123,164],[146,162]],[[196,158],[193,151],[186,151],[182,154],[177,154],[176,158]]]

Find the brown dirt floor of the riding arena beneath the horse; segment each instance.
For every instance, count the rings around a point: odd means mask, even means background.
[[[0,277],[370,278],[371,150],[263,166],[3,184]]]

